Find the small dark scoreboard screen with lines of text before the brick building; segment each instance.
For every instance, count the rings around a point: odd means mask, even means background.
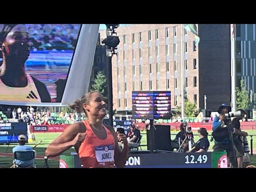
[[[133,91],[132,116],[134,119],[170,119],[170,91]]]

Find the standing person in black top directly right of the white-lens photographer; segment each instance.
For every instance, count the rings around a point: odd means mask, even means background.
[[[246,114],[244,110],[238,109],[241,112],[241,117],[235,117],[232,120],[232,127],[234,128],[233,132],[233,141],[234,141],[234,150],[236,152],[236,159],[238,168],[243,168],[243,156],[244,156],[244,146],[243,146],[243,136],[247,136],[246,132],[242,132],[240,128],[240,120]]]

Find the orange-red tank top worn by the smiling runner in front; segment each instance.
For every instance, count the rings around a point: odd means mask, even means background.
[[[83,121],[86,126],[86,138],[82,142],[78,155],[84,168],[107,168],[114,167],[115,140],[112,133],[103,126],[107,132],[107,138],[99,139],[90,124]]]

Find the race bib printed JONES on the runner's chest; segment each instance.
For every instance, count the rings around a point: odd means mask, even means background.
[[[95,147],[95,156],[99,163],[114,161],[114,146],[106,145]]]

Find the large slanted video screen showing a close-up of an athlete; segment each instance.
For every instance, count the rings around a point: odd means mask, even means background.
[[[0,24],[0,101],[61,102],[80,24]]]

